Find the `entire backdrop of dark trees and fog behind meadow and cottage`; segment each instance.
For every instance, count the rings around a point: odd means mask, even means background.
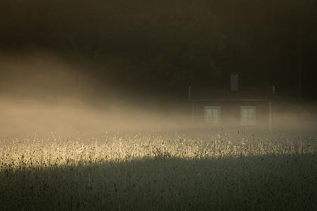
[[[0,131],[188,127],[189,85],[275,85],[316,131],[316,1],[0,1]]]

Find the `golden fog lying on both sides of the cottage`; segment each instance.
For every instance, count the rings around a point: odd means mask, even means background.
[[[220,129],[192,123],[186,95],[175,101],[137,93],[111,77],[101,82],[89,74],[96,70],[92,62],[63,60],[43,52],[6,55],[0,60],[1,135]],[[99,68],[108,73],[127,71]],[[316,132],[316,113],[316,103],[278,100],[273,104],[273,129]],[[227,121],[221,129],[232,129],[233,120]]]

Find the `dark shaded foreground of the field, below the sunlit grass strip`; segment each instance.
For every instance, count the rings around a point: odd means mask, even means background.
[[[0,210],[316,210],[317,156],[151,158],[0,172]]]

